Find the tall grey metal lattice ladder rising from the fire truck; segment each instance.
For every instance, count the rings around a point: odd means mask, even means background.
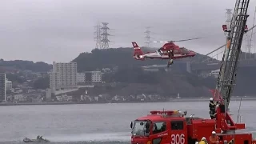
[[[238,60],[241,54],[242,38],[245,33],[247,9],[250,0],[237,0],[234,6],[234,14],[230,22],[230,30],[226,30],[226,48],[222,57],[216,91],[222,96],[225,105],[225,113],[230,103],[230,97],[234,89]]]

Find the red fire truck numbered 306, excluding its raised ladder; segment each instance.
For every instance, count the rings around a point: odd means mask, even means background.
[[[223,106],[218,108],[218,121],[196,118],[193,115],[185,117],[186,112],[178,110],[150,111],[149,115],[130,123],[131,144],[194,144],[202,137],[209,141],[213,130],[218,134],[220,144],[230,142],[232,139],[239,144],[256,144],[256,141],[252,140],[252,134],[228,133],[228,131],[244,129],[245,124],[235,124],[229,114],[224,118],[222,108]],[[221,131],[227,133],[221,134]]]

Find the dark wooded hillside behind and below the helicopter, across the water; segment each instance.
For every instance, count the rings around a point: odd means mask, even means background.
[[[154,51],[146,50],[143,51]],[[158,73],[146,73],[140,70],[140,66],[166,64],[166,60],[136,61],[132,58],[132,48],[118,48],[108,50],[92,50],[91,53],[79,54],[73,62],[78,62],[78,71],[101,70],[102,68],[114,68],[118,66],[115,74],[106,74],[104,81],[118,82],[119,87],[108,90],[93,90],[94,94],[139,94],[157,93],[163,95],[175,95],[180,93],[186,96],[210,96],[209,89],[215,88],[216,78],[199,78],[196,74],[188,74],[184,71],[173,70],[170,73],[162,71]],[[243,56],[244,54],[242,54]],[[193,59],[199,61],[206,58],[198,54]],[[209,57],[208,57],[209,58]],[[178,61],[190,61],[190,58],[182,58]],[[249,70],[250,69],[250,70]],[[235,95],[255,95],[254,73],[256,68],[243,68],[238,70]]]

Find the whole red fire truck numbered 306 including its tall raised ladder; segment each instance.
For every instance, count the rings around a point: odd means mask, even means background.
[[[222,26],[226,34],[226,47],[214,94],[216,115],[214,119],[186,117],[186,111],[150,111],[150,114],[130,123],[131,144],[194,144],[205,137],[208,141],[212,131],[218,135],[219,144],[256,144],[252,134],[241,132],[244,123],[235,123],[228,113],[231,93],[234,90],[246,26],[249,0],[236,0],[230,26]],[[240,132],[239,132],[240,130]]]

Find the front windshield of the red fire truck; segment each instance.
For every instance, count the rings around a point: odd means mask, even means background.
[[[134,136],[148,136],[150,132],[146,131],[146,121],[134,121],[131,133]]]

